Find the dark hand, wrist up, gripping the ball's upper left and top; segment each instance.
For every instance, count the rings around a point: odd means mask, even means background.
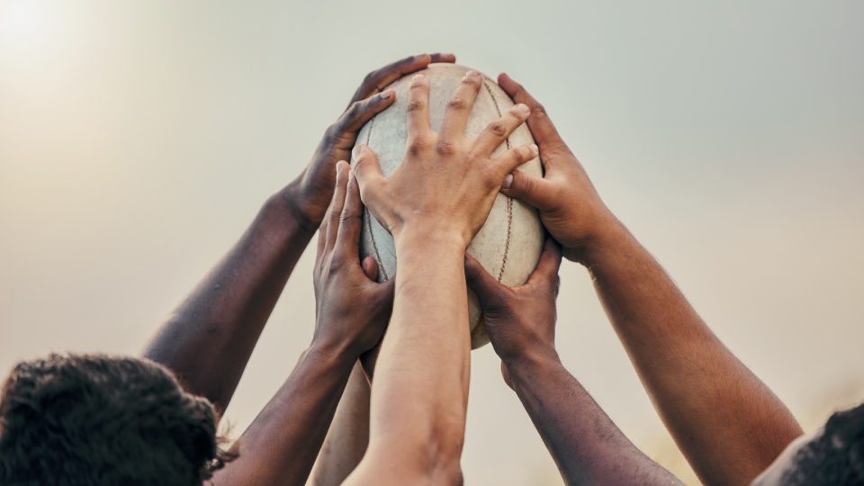
[[[346,111],[324,132],[309,166],[288,186],[286,202],[301,220],[304,228],[314,230],[324,219],[324,213],[333,195],[336,163],[347,160],[357,133],[378,112],[395,100],[392,89],[382,91],[401,76],[412,73],[432,62],[455,62],[453,54],[419,54],[404,58],[366,75],[357,88]]]

